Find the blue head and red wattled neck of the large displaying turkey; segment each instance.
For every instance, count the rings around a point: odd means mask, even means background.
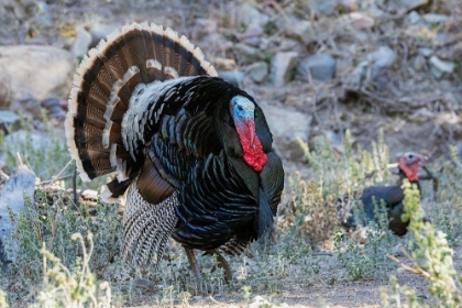
[[[243,96],[230,101],[230,112],[244,152],[244,161],[255,172],[266,164],[266,154],[255,132],[255,105]]]

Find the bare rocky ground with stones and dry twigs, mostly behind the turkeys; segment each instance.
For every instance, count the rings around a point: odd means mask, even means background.
[[[23,113],[40,134],[45,108],[62,127],[79,59],[112,31],[146,21],[185,34],[256,99],[288,175],[309,177],[298,138],[312,144],[327,135],[342,152],[346,129],[358,146],[370,147],[383,129],[392,157],[416,151],[437,162],[449,144],[462,152],[460,8],[460,0],[2,0],[0,125],[8,132]],[[339,306],[380,302],[374,283],[319,288]],[[316,298],[317,287],[305,292],[284,298],[317,305],[301,299]]]

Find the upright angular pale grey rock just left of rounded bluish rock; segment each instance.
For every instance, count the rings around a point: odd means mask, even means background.
[[[276,87],[284,86],[290,80],[292,70],[297,66],[298,53],[283,52],[276,53],[273,57],[271,74],[273,84]]]

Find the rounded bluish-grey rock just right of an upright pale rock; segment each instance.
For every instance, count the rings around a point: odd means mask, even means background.
[[[317,80],[327,81],[336,75],[336,58],[329,54],[317,54],[302,59],[297,70],[301,76],[311,74]]]

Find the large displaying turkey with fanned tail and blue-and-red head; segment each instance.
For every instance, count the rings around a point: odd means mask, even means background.
[[[273,224],[284,183],[254,99],[217,77],[170,29],[131,24],[89,51],[74,79],[66,138],[82,180],[116,172],[101,196],[127,195],[123,257],[157,264],[172,237],[200,279],[194,249],[239,254]]]

